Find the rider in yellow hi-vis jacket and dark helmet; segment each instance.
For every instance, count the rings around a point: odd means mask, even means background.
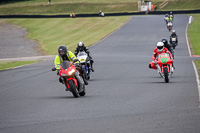
[[[55,60],[54,60],[55,68],[57,69],[57,75],[59,75],[61,62],[64,60],[74,62],[74,65],[77,68],[77,70],[80,72],[85,85],[88,85],[88,82],[84,76],[86,74],[86,72],[84,69],[82,69],[80,67],[79,60],[76,58],[76,56],[73,54],[73,52],[67,51],[67,47],[65,45],[60,45],[58,47],[58,55],[55,57]],[[60,81],[60,83],[64,82],[61,77],[59,77],[59,81]]]

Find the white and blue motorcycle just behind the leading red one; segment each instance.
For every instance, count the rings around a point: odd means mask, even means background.
[[[91,75],[91,66],[90,66],[90,58],[86,52],[79,52],[77,55],[77,59],[80,61],[80,64],[83,69],[86,71],[85,79],[89,80]]]

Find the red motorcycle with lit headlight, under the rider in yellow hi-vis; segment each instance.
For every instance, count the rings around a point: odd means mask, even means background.
[[[52,71],[56,71],[56,68],[52,68]],[[67,60],[61,62],[59,75],[66,86],[66,91],[70,91],[76,98],[85,96],[85,84],[72,62]]]

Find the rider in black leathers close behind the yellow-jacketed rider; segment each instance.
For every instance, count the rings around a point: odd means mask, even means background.
[[[94,63],[94,61],[93,61],[93,59],[92,59],[92,56],[91,56],[91,54],[90,54],[89,49],[85,47],[85,45],[84,45],[83,42],[79,42],[79,43],[77,44],[77,47],[76,47],[76,49],[75,49],[74,54],[77,56],[78,53],[81,52],[81,51],[85,51],[85,52],[87,53],[88,57],[90,58],[91,70],[92,70],[92,72],[94,72],[94,68],[93,68],[93,63]]]

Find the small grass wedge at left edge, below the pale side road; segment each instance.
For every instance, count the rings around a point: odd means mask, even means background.
[[[39,61],[0,61],[0,70],[11,69],[17,66],[36,63]]]

